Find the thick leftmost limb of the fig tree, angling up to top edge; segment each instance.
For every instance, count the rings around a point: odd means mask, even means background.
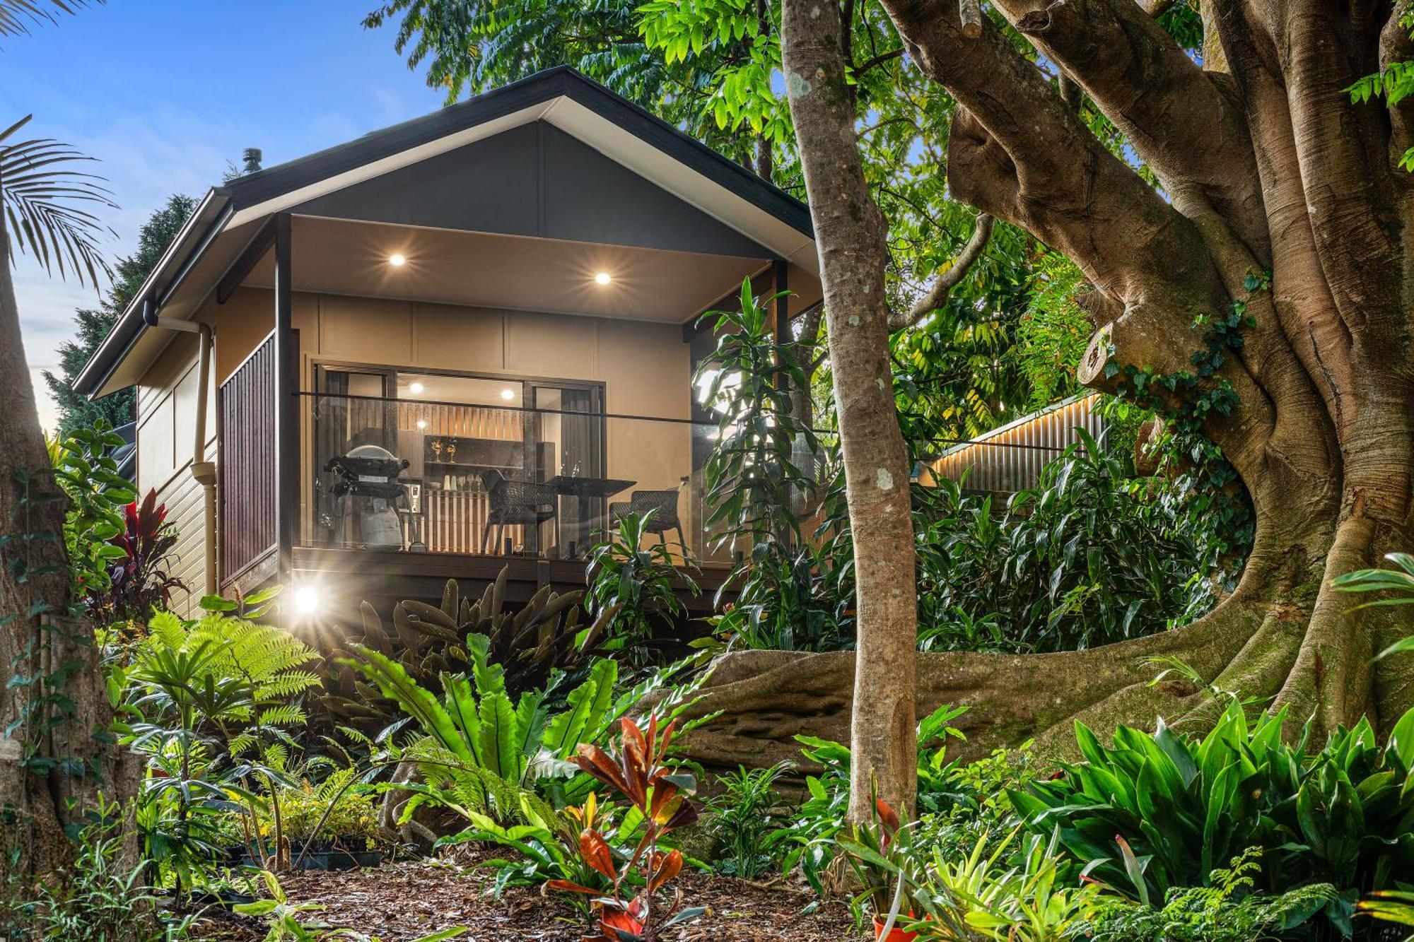
[[[946,3],[884,6],[912,58],[959,103],[947,146],[959,198],[1065,252],[1127,304],[1167,293],[1186,327],[1225,303],[1196,228],[1096,140],[1005,35],[988,23],[969,40]]]

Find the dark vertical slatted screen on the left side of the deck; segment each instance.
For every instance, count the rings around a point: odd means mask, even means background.
[[[221,385],[221,584],[279,543],[274,334]]]

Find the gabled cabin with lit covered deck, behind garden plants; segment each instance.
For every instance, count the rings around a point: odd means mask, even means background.
[[[696,322],[747,277],[819,303],[807,208],[559,68],[212,188],[76,385],[137,388],[178,607],[583,587],[615,505],[710,590]]]

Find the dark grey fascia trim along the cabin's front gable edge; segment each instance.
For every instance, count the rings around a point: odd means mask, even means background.
[[[561,96],[588,107],[802,235],[813,238],[810,209],[803,202],[567,65],[536,72],[519,82],[457,105],[448,105],[440,112],[368,133],[346,144],[240,177],[226,184],[226,190],[230,194],[233,208],[236,211],[246,209],[447,134]]]

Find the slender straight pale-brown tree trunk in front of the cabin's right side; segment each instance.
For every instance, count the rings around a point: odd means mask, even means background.
[[[850,816],[870,820],[874,795],[912,815],[918,601],[908,454],[888,361],[887,226],[860,163],[839,10],[820,0],[786,0],[781,44],[820,253],[854,539],[858,649],[851,682]]]

